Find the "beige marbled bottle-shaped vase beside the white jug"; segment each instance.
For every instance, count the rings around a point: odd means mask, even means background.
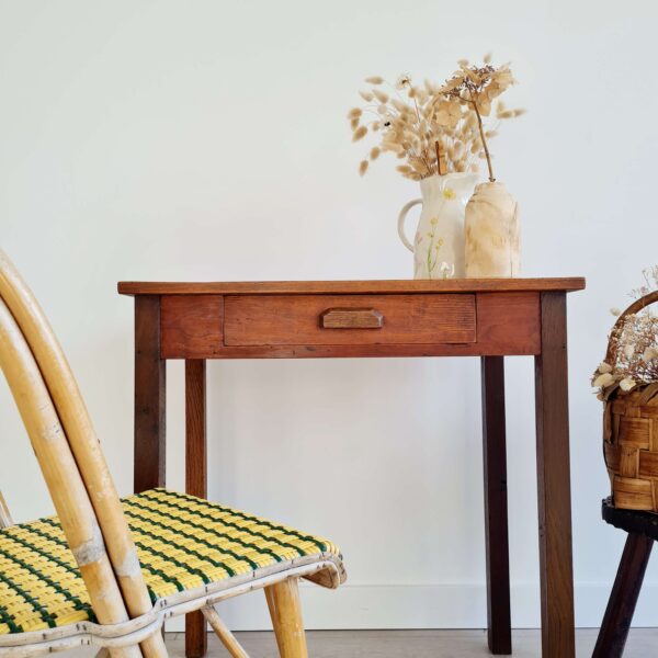
[[[502,183],[480,183],[466,204],[465,266],[468,279],[519,276],[521,239],[517,201]]]

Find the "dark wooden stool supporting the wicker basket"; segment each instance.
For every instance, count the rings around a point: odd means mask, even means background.
[[[628,537],[592,658],[619,658],[624,653],[651,547],[658,541],[658,514],[620,510],[611,498],[603,500],[601,514],[603,521],[626,531]]]

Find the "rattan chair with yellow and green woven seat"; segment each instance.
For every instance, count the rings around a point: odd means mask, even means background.
[[[243,658],[213,605],[256,589],[281,656],[307,656],[297,582],[341,585],[339,549],[166,489],[120,500],[66,358],[1,252],[0,367],[57,511],[12,524],[0,496],[0,657],[89,645],[113,658],[162,657],[164,620],[202,610]]]

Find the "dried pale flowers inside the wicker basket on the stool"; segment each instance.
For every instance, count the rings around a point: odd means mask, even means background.
[[[658,265],[643,274],[644,285],[632,293],[635,299],[658,291]],[[619,309],[612,313],[620,315]],[[617,388],[627,393],[646,385],[658,386],[658,316],[648,306],[614,326],[608,355],[592,376],[592,386],[602,400]]]

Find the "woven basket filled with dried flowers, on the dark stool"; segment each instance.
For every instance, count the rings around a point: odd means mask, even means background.
[[[604,402],[603,454],[614,504],[658,512],[658,266],[619,315],[592,376]]]

